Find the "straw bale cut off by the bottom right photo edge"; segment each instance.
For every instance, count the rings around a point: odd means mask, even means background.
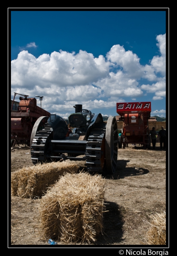
[[[166,212],[155,213],[150,215],[151,221],[145,221],[150,225],[150,229],[147,232],[147,243],[154,245],[166,244]]]

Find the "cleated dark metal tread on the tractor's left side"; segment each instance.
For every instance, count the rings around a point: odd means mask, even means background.
[[[36,163],[46,161],[45,143],[52,131],[53,129],[51,128],[50,124],[46,123],[42,130],[36,132],[31,144],[31,160],[34,165]]]

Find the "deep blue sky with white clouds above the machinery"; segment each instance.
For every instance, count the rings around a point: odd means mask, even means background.
[[[61,117],[75,104],[115,116],[116,102],[151,101],[151,116],[166,117],[165,9],[18,10],[11,99],[43,96],[42,107]]]

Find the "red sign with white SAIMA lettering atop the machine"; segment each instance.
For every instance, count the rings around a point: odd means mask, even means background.
[[[122,102],[116,104],[116,112],[151,111],[151,102]]]

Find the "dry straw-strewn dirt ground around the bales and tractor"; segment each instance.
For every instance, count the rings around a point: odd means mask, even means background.
[[[11,172],[23,166],[32,166],[30,148],[11,150]],[[106,210],[103,218],[103,234],[93,247],[122,247],[124,245],[147,245],[146,233],[152,212],[166,211],[166,151],[143,149],[128,145],[118,149],[117,170],[114,175],[105,175]],[[69,160],[67,160],[69,161]],[[77,161],[80,169],[84,161]],[[168,171],[168,170],[167,170]],[[168,173],[167,173],[168,174]],[[49,245],[42,240],[38,230],[38,206],[40,199],[24,199],[11,196],[11,245],[9,247],[43,247]],[[64,247],[66,245],[58,241]],[[86,244],[85,244],[86,245]],[[49,245],[50,246],[50,245]]]

